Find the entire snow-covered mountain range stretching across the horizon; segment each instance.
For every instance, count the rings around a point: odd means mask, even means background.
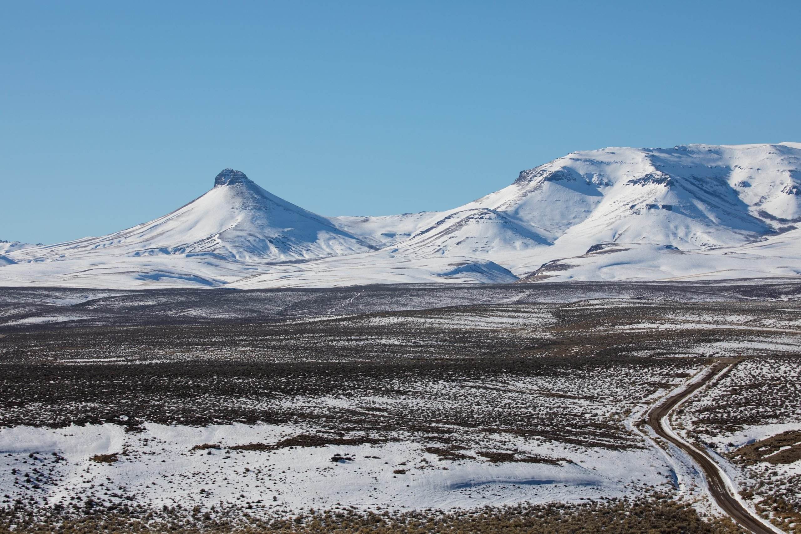
[[[801,143],[574,152],[464,206],[380,217],[316,215],[226,169],[211,191],[150,223],[0,250],[9,262],[0,283],[306,287],[796,275],[798,223]]]

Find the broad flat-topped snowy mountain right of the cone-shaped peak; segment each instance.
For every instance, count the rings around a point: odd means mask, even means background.
[[[735,247],[801,222],[799,149],[783,143],[574,152],[437,214],[398,246],[491,258],[517,274],[598,243]]]

